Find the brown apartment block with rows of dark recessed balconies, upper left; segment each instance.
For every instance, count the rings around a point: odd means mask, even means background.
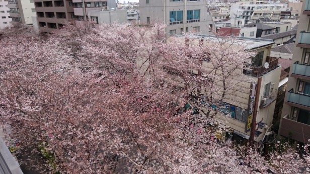
[[[74,20],[72,0],[34,0],[39,30],[53,32]]]

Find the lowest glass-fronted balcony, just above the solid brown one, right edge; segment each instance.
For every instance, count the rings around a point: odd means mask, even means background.
[[[310,110],[310,95],[301,92],[294,93],[293,89],[288,91],[287,105],[298,107],[301,109]]]

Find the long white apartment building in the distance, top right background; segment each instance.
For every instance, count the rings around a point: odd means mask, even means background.
[[[230,18],[241,17],[245,19],[246,24],[268,15],[273,20],[280,20],[281,11],[287,11],[287,4],[235,4],[230,7]]]

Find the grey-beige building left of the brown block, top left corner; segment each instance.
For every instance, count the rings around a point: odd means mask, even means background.
[[[32,17],[36,16],[34,0],[8,0],[12,24],[32,25]]]

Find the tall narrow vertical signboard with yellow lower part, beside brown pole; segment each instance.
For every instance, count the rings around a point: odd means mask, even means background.
[[[254,108],[254,101],[255,101],[255,87],[256,83],[252,82],[250,86],[250,95],[249,95],[249,104],[248,104],[248,116],[246,119],[246,127],[245,132],[249,132],[251,129],[251,122],[252,122],[252,114]]]

